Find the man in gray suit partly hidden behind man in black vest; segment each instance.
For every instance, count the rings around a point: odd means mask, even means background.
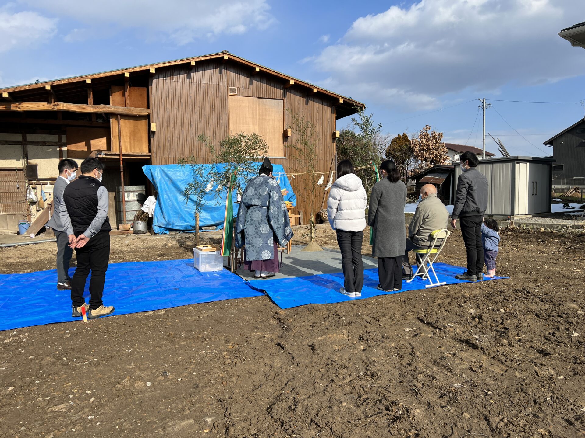
[[[51,216],[47,227],[53,228],[55,236],[57,237],[57,289],[58,290],[70,290],[71,289],[71,277],[69,277],[69,262],[71,262],[71,255],[73,255],[73,249],[69,246],[69,237],[64,231],[63,224],[61,224],[60,211],[61,206],[65,206],[63,203],[63,192],[65,187],[75,179],[77,176],[77,163],[72,159],[64,158],[59,161],[59,177],[55,182],[53,188],[53,216]]]

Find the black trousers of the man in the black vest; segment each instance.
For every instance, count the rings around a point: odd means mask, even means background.
[[[80,307],[85,301],[83,291],[85,281],[90,274],[90,309],[95,310],[103,305],[104,283],[109,262],[109,233],[98,232],[85,246],[75,249],[77,268],[71,280],[71,303]],[[482,262],[483,263],[483,262]]]

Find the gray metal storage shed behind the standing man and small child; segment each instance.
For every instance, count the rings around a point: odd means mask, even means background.
[[[486,215],[514,217],[550,213],[552,158],[503,157],[480,160],[477,170],[490,185]],[[455,164],[455,180],[461,175]],[[453,197],[457,185],[453,185]]]

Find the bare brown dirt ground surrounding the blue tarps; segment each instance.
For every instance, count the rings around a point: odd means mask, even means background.
[[[326,228],[318,241],[335,247]],[[497,272],[510,280],[0,332],[0,436],[585,436],[585,236],[502,236]],[[192,246],[116,237],[111,262],[188,258]],[[51,269],[54,253],[0,249],[0,272]],[[457,231],[443,261],[464,259]]]

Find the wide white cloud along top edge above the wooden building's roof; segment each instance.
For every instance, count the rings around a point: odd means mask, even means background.
[[[116,30],[134,29],[149,37],[162,34],[183,45],[202,37],[214,39],[221,34],[263,30],[276,21],[267,0],[101,0],[99,4],[79,0],[23,1],[83,23],[67,34],[66,41],[95,37],[96,30],[106,26],[112,30],[100,33],[102,37]]]

